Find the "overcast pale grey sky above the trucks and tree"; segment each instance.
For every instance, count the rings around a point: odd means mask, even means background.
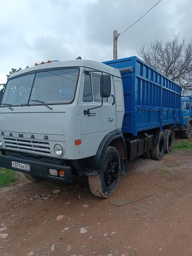
[[[11,68],[42,60],[113,59],[113,30],[140,18],[157,0],[0,0],[0,83]],[[161,0],[118,38],[118,58],[137,55],[142,43],[192,39],[192,1]]]

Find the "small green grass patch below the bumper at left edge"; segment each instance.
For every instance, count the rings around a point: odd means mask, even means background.
[[[18,179],[16,171],[0,168],[0,187],[9,186]]]

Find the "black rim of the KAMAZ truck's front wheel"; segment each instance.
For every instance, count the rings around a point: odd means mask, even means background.
[[[105,168],[105,184],[107,187],[112,187],[117,180],[119,171],[119,163],[115,159],[115,157],[111,157],[108,159]]]

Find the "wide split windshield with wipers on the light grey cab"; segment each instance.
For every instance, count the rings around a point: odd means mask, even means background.
[[[2,105],[33,105],[40,101],[47,104],[71,103],[75,97],[78,73],[78,68],[67,68],[10,79]]]

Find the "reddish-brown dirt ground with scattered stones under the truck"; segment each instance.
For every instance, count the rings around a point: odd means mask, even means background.
[[[192,150],[132,161],[109,199],[94,197],[87,179],[22,178],[0,190],[0,255],[191,256],[191,188]],[[111,204],[125,200],[134,203]]]

